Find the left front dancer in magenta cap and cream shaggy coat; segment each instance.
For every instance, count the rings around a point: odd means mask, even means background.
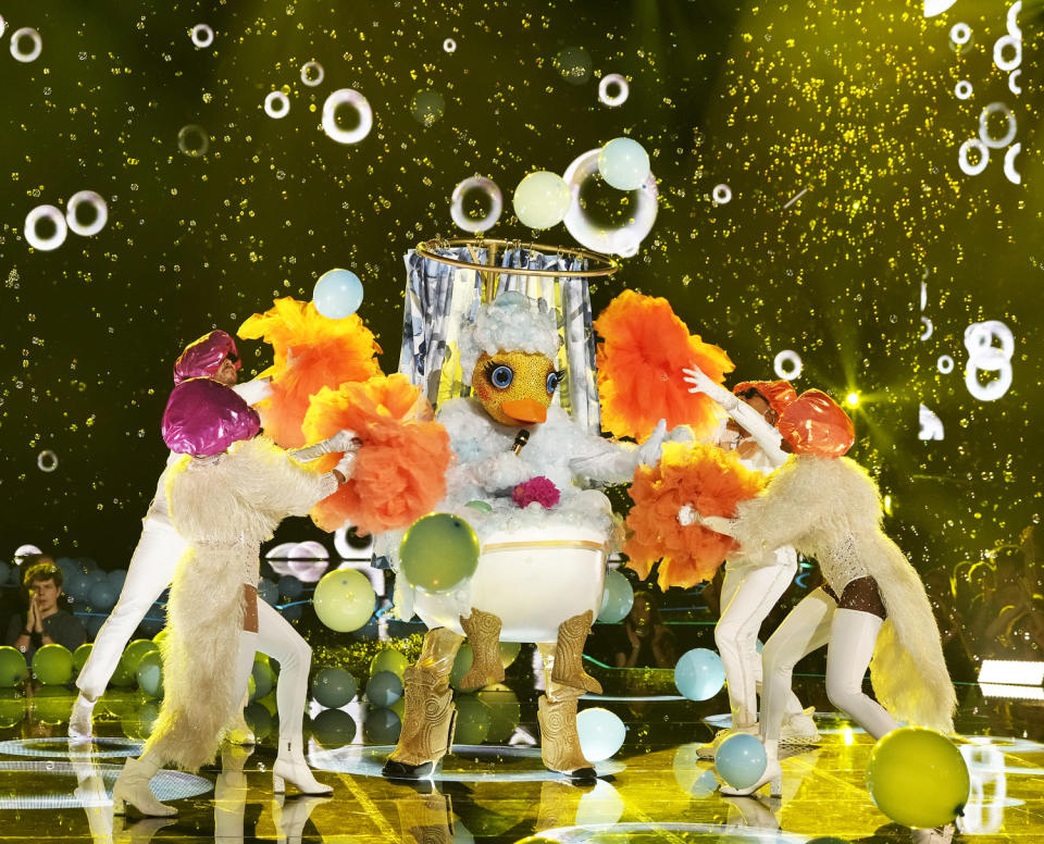
[[[182,382],[167,401],[163,439],[184,457],[170,469],[166,499],[188,547],[167,604],[163,705],[145,753],[127,760],[113,786],[116,814],[127,803],[145,815],[176,814],[156,799],[149,781],[165,764],[196,770],[213,759],[240,707],[258,647],[287,659],[277,692],[274,791],[283,791],[285,780],[309,793],[331,791],[312,778],[302,753],[310,650],[258,600],[258,560],[261,543],[285,517],[306,516],[346,482],[355,454],[349,450],[332,472],[310,471],[258,436],[260,429],[257,411],[210,378]],[[319,444],[313,450],[331,448]]]

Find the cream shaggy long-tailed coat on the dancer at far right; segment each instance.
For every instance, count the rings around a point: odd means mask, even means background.
[[[801,455],[741,504],[734,519],[705,523],[734,536],[745,553],[794,546],[816,558],[838,596],[852,581],[872,576],[887,612],[870,663],[878,700],[898,720],[953,732],[957,700],[935,617],[921,579],[881,519],[880,491],[858,463]]]

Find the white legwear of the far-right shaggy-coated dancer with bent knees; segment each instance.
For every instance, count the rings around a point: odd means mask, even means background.
[[[862,692],[862,679],[873,657],[883,620],[871,612],[840,609],[821,588],[813,591],[783,619],[766,643],[761,735],[775,741],[785,718],[794,666],[807,654],[829,644],[826,696],[874,738],[898,724]]]

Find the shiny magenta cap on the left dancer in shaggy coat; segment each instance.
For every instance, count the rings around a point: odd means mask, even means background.
[[[261,419],[231,387],[210,378],[189,378],[171,393],[161,430],[172,451],[210,457],[257,436]]]

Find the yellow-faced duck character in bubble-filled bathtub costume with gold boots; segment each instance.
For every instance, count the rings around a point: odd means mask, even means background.
[[[464,588],[449,596],[414,596],[430,630],[419,660],[406,670],[402,732],[385,777],[428,777],[449,752],[456,712],[449,673],[465,636],[474,660],[462,685],[472,687],[504,679],[501,638],[536,642],[545,670],[546,692],[538,703],[544,764],[574,779],[595,775],[580,748],[576,700],[601,691],[581,660],[601,603],[613,520],[608,498],[589,487],[627,483],[637,466],[658,461],[666,423],[641,446],[588,433],[554,404],[563,376],[555,364],[558,350],[555,315],[518,291],[481,306],[461,334],[460,363],[472,396],[449,399],[438,409],[436,419],[457,456],[438,509],[464,518],[483,550]],[[510,566],[490,580],[485,572],[504,553],[496,549],[519,545],[510,539],[526,532],[544,541],[537,546],[597,547],[596,562],[582,569],[586,581],[526,581]],[[542,563],[540,556],[546,564],[552,550],[542,555],[537,548],[533,564]],[[577,576],[576,568],[558,568],[556,578]],[[579,601],[577,594],[584,596]],[[560,599],[559,609],[552,609]],[[563,608],[568,600],[571,609]],[[500,609],[492,611],[494,605]],[[587,609],[579,611],[580,605]]]

